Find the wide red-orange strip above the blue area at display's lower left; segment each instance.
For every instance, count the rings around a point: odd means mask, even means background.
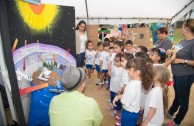
[[[30,92],[33,92],[33,91],[36,91],[42,88],[46,88],[46,87],[48,87],[48,83],[39,84],[37,86],[27,87],[23,89],[19,88],[20,96],[23,96],[24,94],[27,94],[27,93],[30,93]]]

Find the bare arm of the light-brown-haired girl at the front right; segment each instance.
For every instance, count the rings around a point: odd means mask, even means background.
[[[148,115],[145,118],[145,120],[143,121],[142,126],[147,126],[148,125],[148,123],[150,122],[150,120],[155,115],[156,111],[157,111],[157,108],[150,107],[150,110],[148,112]]]

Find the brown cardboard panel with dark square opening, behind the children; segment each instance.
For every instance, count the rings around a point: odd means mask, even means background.
[[[150,41],[150,28],[128,28],[126,30],[125,40],[131,39],[134,45],[146,46],[151,48],[153,44]]]

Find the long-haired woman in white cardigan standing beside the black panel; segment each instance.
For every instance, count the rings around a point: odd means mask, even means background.
[[[77,67],[83,67],[86,50],[86,22],[81,20],[76,27],[76,62]]]

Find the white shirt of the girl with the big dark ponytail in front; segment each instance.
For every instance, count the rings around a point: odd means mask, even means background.
[[[140,80],[131,80],[130,83],[127,84],[121,98],[121,103],[126,111],[134,113],[140,111],[141,87],[142,82]]]

